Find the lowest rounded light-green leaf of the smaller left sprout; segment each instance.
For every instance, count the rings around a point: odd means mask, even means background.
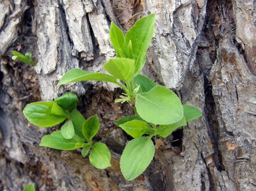
[[[89,160],[94,167],[104,169],[110,167],[110,152],[107,146],[101,142],[96,142],[92,147]]]

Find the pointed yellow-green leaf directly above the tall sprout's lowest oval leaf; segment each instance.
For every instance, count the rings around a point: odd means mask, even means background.
[[[145,134],[142,129],[150,128],[150,126],[141,120],[132,120],[120,125],[120,127],[133,138],[140,137]]]

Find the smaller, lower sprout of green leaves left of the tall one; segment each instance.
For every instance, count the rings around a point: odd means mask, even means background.
[[[87,120],[76,109],[78,98],[68,92],[54,101],[39,101],[28,104],[23,113],[36,126],[51,127],[66,122],[59,131],[45,135],[40,146],[53,149],[74,150],[82,148],[81,154],[85,157],[90,151],[89,160],[96,168],[107,168],[110,164],[110,152],[101,142],[93,142],[92,138],[99,130],[99,119],[94,115]]]

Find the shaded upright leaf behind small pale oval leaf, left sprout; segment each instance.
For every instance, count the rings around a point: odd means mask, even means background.
[[[74,125],[75,134],[77,134],[79,137],[81,137],[83,141],[87,141],[82,133],[82,127],[85,122],[83,115],[81,115],[81,113],[78,112],[78,110],[74,109],[71,112],[70,117],[71,117],[72,123]]]

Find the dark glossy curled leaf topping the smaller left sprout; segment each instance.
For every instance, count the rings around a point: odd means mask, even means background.
[[[54,102],[67,109],[69,113],[71,113],[73,109],[77,108],[78,98],[74,93],[68,92],[63,96],[55,97]]]

